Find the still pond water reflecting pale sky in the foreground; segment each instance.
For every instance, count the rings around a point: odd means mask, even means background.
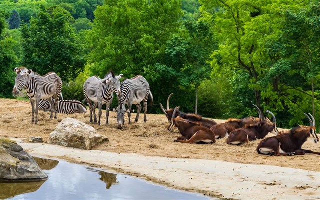
[[[3,183],[0,185],[2,199],[208,199],[203,195],[169,189],[128,175],[101,171],[98,168],[63,160],[35,159],[40,166],[50,168],[50,170],[44,169],[49,179],[37,183],[6,185]]]

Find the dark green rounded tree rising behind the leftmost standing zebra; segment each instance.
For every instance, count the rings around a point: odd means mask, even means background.
[[[70,27],[73,20],[59,6],[43,8],[30,26],[22,28],[23,63],[40,74],[54,71],[63,81],[75,78],[84,67],[85,55]]]

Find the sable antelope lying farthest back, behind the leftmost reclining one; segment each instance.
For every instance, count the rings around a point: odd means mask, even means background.
[[[173,116],[173,111],[174,109],[170,109],[169,107],[169,103],[170,103],[170,98],[174,93],[171,93],[166,101],[166,109],[163,108],[162,104],[160,103],[160,107],[163,111],[163,113],[165,114],[166,118],[168,119],[169,122],[171,122],[172,120],[172,116]],[[180,110],[176,110],[176,114],[175,116],[180,116],[181,118],[184,119],[188,119],[190,121],[194,121],[194,122],[199,122],[199,125],[205,126],[207,128],[212,127],[213,125],[216,125],[217,123],[212,120],[212,119],[208,119],[208,118],[203,118],[201,115],[195,114],[195,113],[185,113],[185,112],[181,112]]]

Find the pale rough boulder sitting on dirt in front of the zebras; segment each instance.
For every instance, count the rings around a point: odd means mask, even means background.
[[[50,133],[49,144],[90,150],[97,144],[109,141],[95,129],[73,118],[63,119]]]

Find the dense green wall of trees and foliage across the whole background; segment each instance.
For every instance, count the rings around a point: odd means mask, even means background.
[[[12,97],[13,68],[63,79],[83,100],[86,78],[110,69],[143,75],[161,113],[207,117],[275,113],[282,127],[319,118],[320,3],[317,0],[2,0],[0,97]],[[113,102],[116,104],[116,99]],[[317,120],[319,121],[319,120]]]

